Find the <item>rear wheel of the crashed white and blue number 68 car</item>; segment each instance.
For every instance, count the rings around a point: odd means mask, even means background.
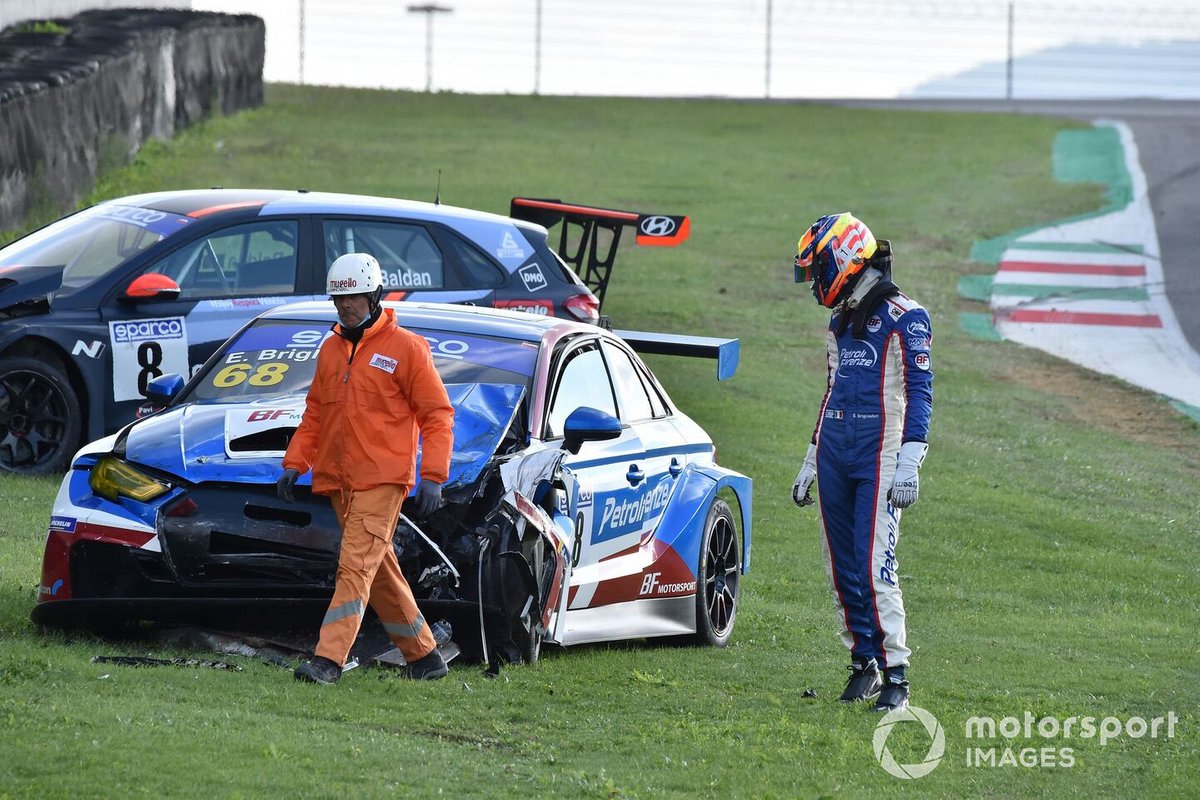
[[[708,509],[696,575],[696,634],[691,643],[724,648],[733,634],[742,583],[738,530],[725,500],[714,498]]]

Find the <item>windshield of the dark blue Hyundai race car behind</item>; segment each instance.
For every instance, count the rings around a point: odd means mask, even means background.
[[[186,227],[178,213],[96,205],[0,249],[0,267],[62,267],[61,294],[77,291]]]

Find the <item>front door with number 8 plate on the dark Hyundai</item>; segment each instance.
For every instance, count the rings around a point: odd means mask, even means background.
[[[259,218],[220,228],[157,258],[148,273],[179,287],[175,297],[119,295],[104,309],[109,329],[115,415],[145,397],[167,373],[190,377],[246,321],[270,306],[314,295],[300,267],[299,218]],[[298,294],[306,291],[308,294]]]

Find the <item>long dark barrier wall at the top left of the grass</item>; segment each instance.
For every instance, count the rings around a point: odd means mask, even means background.
[[[127,163],[212,113],[263,102],[259,17],[94,10],[66,34],[0,31],[0,230],[76,207]]]

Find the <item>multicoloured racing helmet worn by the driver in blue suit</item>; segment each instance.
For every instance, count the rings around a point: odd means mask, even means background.
[[[796,282],[812,282],[812,296],[833,308],[853,291],[878,245],[848,211],[827,213],[796,243]]]

